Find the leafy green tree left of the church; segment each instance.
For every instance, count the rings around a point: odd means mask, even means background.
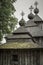
[[[13,16],[16,11],[13,3],[16,0],[0,0],[0,40],[3,35],[10,33],[17,22],[17,19]]]

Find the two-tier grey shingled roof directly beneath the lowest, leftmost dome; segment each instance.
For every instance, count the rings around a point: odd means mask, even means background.
[[[6,39],[23,39],[23,38],[31,38],[31,34],[27,31],[25,27],[19,27],[12,34],[6,36]]]

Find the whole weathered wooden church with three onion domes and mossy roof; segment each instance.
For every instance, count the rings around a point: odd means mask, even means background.
[[[0,65],[43,65],[43,20],[38,15],[37,5],[35,2],[35,15],[33,7],[29,8],[27,23],[22,12],[20,27],[0,45]]]

